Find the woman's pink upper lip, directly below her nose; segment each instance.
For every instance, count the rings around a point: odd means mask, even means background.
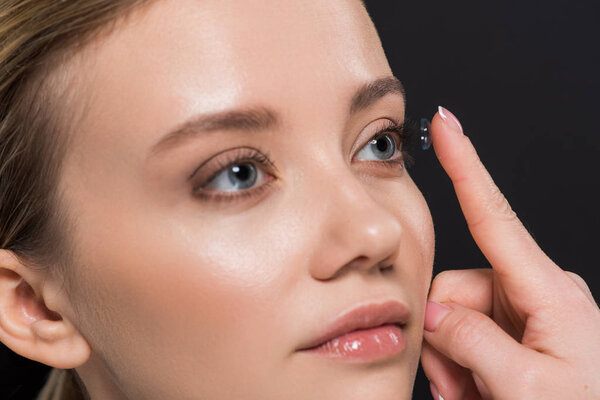
[[[410,318],[410,310],[396,300],[359,305],[341,313],[312,340],[302,344],[298,350],[317,347],[335,337],[357,329],[374,328],[385,324],[403,325]]]

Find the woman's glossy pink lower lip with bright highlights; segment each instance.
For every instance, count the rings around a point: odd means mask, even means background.
[[[406,334],[402,328],[388,324],[349,332],[302,352],[348,361],[372,362],[400,354],[404,347]]]

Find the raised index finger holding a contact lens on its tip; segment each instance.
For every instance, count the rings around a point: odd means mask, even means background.
[[[450,177],[469,231],[508,290],[545,298],[564,273],[540,249],[481,163],[458,119],[443,107],[431,123],[435,153]],[[560,276],[559,276],[560,274]],[[531,304],[531,303],[530,303]]]

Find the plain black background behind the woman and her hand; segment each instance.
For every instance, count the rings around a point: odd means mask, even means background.
[[[452,111],[542,249],[599,299],[600,27],[593,1],[367,1],[407,115]],[[434,274],[489,266],[433,150],[410,173],[435,222]],[[33,398],[47,369],[0,348],[0,398]],[[32,378],[35,377],[35,378]],[[414,399],[429,399],[421,367]]]

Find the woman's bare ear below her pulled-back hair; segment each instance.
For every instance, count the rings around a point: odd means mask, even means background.
[[[51,367],[84,364],[91,352],[88,342],[61,311],[46,306],[67,304],[58,300],[59,295],[43,271],[28,268],[13,252],[0,249],[0,342]]]

